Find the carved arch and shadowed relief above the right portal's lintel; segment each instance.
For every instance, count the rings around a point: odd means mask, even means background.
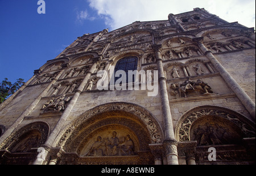
[[[246,121],[249,120],[242,114],[226,108],[199,106],[181,116],[176,124],[175,138],[177,141],[197,139],[199,145],[232,143],[242,137],[255,136],[255,127]]]

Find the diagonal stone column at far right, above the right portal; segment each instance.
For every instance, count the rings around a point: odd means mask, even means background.
[[[251,100],[251,98],[243,91],[240,85],[237,83],[236,80],[232,78],[228,71],[221,65],[220,62],[214,57],[212,51],[208,50],[207,47],[203,44],[203,38],[195,38],[194,41],[197,42],[199,48],[203,53],[207,56],[210,60],[212,65],[216,68],[222,78],[226,81],[229,87],[232,89],[234,93],[236,93],[239,100],[245,106],[246,110],[249,111],[251,115],[251,120],[255,122],[255,103]]]

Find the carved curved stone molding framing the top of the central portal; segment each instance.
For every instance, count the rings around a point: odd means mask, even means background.
[[[112,118],[105,120],[104,122],[98,122],[95,123],[95,118],[97,115],[100,115],[101,118],[102,114],[108,113],[108,112],[117,112],[117,115],[119,113],[125,113],[130,114],[130,119],[126,118]],[[113,115],[113,114],[112,114]],[[86,111],[85,113],[81,114],[77,119],[75,119],[73,122],[71,122],[67,127],[65,127],[62,132],[57,136],[55,143],[53,144],[53,147],[64,147],[68,146],[72,143],[72,139],[75,138],[75,136],[79,133],[79,130],[82,130],[86,125],[92,125],[94,124],[94,129],[100,128],[102,126],[111,124],[120,124],[129,126],[129,128],[134,130],[138,130],[140,125],[135,123],[135,121],[140,122],[142,126],[146,127],[147,133],[150,136],[149,143],[161,143],[163,141],[163,132],[162,128],[160,127],[158,121],[154,118],[154,116],[149,113],[146,109],[142,108],[141,106],[130,104],[126,102],[115,102],[115,103],[109,103],[97,106],[96,108],[90,109]],[[127,122],[127,123],[126,123]],[[129,122],[129,123],[128,123]],[[137,127],[135,125],[137,124]],[[134,127],[133,127],[134,126]],[[89,129],[90,132],[93,129]],[[143,131],[143,130],[142,130]],[[88,134],[87,134],[88,135]],[[146,134],[145,134],[146,135]],[[138,137],[139,138],[139,137]],[[143,141],[143,139],[141,139]],[[81,141],[80,141],[81,142]]]

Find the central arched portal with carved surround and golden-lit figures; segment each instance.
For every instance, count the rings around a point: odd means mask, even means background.
[[[158,121],[135,104],[115,102],[81,114],[57,136],[59,164],[154,164],[149,144],[163,141]]]

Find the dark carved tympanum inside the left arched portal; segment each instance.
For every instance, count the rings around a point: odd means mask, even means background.
[[[12,152],[29,152],[31,148],[36,148],[39,145],[41,136],[39,134],[30,135],[23,139],[18,145],[13,148]]]

